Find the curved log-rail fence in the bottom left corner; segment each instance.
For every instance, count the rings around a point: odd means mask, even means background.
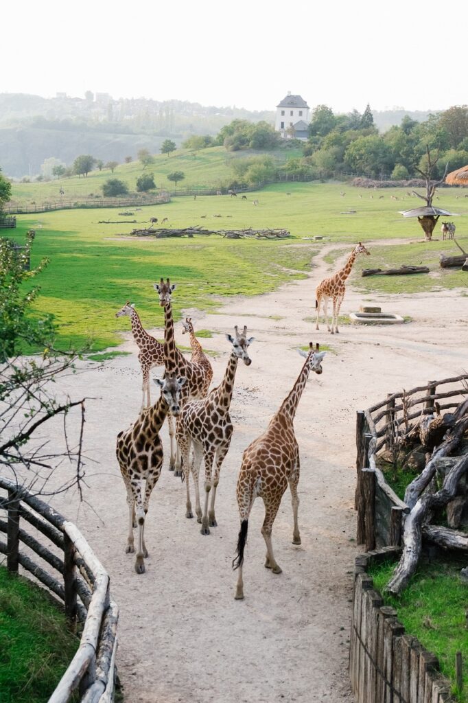
[[[8,479],[0,477],[0,489],[0,509],[7,517],[0,520],[0,532],[6,533],[0,553],[6,554],[8,571],[17,573],[21,565],[33,574],[63,601],[70,628],[82,628],[77,652],[49,703],[67,703],[75,689],[81,703],[111,703],[119,610],[110,596],[107,572],[79,529],[63,515]],[[37,564],[27,551],[47,566]],[[60,579],[51,574],[53,570]]]

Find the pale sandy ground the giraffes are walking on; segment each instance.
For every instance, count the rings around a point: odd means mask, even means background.
[[[216,503],[219,527],[202,536],[197,522],[186,519],[185,487],[167,470],[166,459],[145,528],[150,557],[143,576],[134,572],[134,555],[124,553],[127,511],[115,460],[117,432],[136,418],[141,402],[138,361],[132,355],[104,368],[87,363],[89,370],[68,379],[74,397],[93,398],[86,404],[85,446],[96,464],[87,466],[86,504],[79,505],[72,494],[52,502],[77,522],[110,573],[120,607],[118,666],[128,703],[351,698],[347,661],[356,554],[356,410],[388,392],[467,370],[468,299],[460,291],[366,297],[413,321],[344,326],[333,337],[322,325],[316,333],[306,318],[314,312],[317,283],[330,273],[323,257],[335,246],[323,247],[307,280],[268,295],[231,299],[219,314],[189,311],[195,328],[215,333],[202,340],[219,352],[213,360],[214,382],[228,359],[224,333],[235,324],[246,323],[255,337],[252,365],[238,368],[231,406],[235,434]],[[348,290],[342,314],[358,310],[363,300]],[[187,344],[180,331],[179,325],[178,342]],[[154,333],[161,338],[162,330]],[[240,458],[290,391],[302,365],[296,349],[309,340],[331,344],[336,353],[327,354],[323,375],[312,375],[295,423],[301,449],[302,544],[292,545],[287,491],[273,527],[283,573],[265,569],[263,503],[256,501],[245,555],[245,600],[235,601],[230,562],[239,528],[235,482]],[[134,351],[131,335],[122,349]],[[165,427],[163,437],[168,458]]]

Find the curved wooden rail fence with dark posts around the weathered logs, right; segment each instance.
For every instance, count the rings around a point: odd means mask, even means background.
[[[437,401],[441,410],[455,408],[468,392],[468,374],[388,395],[385,400],[356,417],[356,495],[358,511],[356,539],[367,551],[381,546],[398,546],[401,542],[403,516],[410,509],[386,483],[377,466],[379,452],[397,446],[402,430],[411,420],[434,412]],[[439,388],[440,387],[440,388]],[[447,401],[447,402],[443,402]]]

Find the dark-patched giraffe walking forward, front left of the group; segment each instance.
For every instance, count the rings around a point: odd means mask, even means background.
[[[186,384],[186,378],[177,378],[174,373],[166,373],[164,380],[157,378],[155,382],[161,389],[160,399],[149,408],[143,408],[128,430],[117,434],[115,450],[126,488],[126,502],[129,506],[129,536],[126,553],[135,551],[133,531],[135,518],[138,524],[138,550],[135,560],[137,574],[145,573],[144,560],[148,557],[144,538],[145,517],[151,491],[160,477],[162,467],[163,452],[159,432],[169,411],[174,415],[180,413],[181,389]],[[145,481],[144,498],[143,481]]]

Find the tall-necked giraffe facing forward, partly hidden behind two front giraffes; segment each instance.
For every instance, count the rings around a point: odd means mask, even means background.
[[[183,375],[187,379],[187,383],[181,392],[181,404],[184,404],[188,399],[204,398],[208,393],[213,370],[211,365],[209,365],[208,370],[204,364],[188,361],[181,350],[176,347],[171,304],[172,292],[176,289],[176,284],[171,284],[169,278],[164,283],[163,278],[161,278],[159,284],[153,284],[153,288],[157,290],[160,296],[161,307],[164,307],[164,366],[166,372]],[[181,476],[180,453],[177,446],[174,448],[175,435],[174,427],[171,424],[169,424],[169,437],[171,439],[171,465],[174,465],[174,456],[176,455],[174,476]]]

